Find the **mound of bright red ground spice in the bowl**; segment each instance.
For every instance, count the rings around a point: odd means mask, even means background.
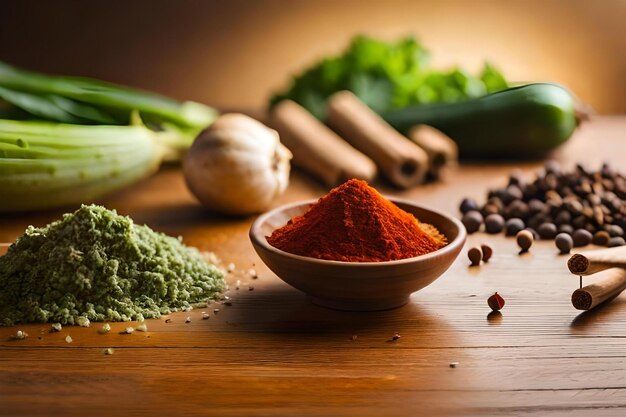
[[[332,189],[267,241],[295,255],[345,262],[411,258],[447,243],[433,226],[420,223],[355,179]]]

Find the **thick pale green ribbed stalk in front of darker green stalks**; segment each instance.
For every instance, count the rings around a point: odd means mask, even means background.
[[[0,212],[93,201],[152,174],[170,140],[143,125],[0,119]]]

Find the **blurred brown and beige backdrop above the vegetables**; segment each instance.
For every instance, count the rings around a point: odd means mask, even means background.
[[[0,59],[222,108],[259,108],[319,57],[366,33],[414,33],[438,67],[487,59],[626,112],[626,0],[0,1]]]

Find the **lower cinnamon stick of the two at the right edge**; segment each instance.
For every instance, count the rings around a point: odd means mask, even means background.
[[[594,275],[600,281],[579,288],[572,294],[572,305],[578,310],[591,310],[610,301],[626,289],[626,270],[610,268]]]

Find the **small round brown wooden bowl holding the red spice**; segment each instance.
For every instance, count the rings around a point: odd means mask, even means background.
[[[250,240],[269,269],[309,295],[315,304],[351,311],[400,307],[413,292],[432,283],[452,265],[463,248],[466,232],[453,217],[409,201],[390,200],[439,229],[448,238],[448,245],[426,255],[397,261],[341,262],[294,255],[267,242],[266,236],[293,216],[304,213],[317,200],[289,204],[262,214],[250,228]]]

